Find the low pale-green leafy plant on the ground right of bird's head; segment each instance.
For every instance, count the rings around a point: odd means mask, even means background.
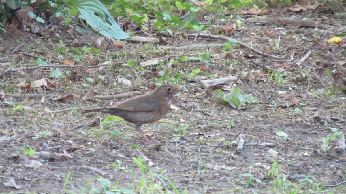
[[[215,90],[214,93],[221,99],[222,104],[228,103],[234,108],[250,103],[258,103],[253,96],[240,93],[239,88],[232,88],[228,94],[224,94],[221,89]]]

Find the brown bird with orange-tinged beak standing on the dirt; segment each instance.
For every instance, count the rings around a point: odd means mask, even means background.
[[[142,135],[145,142],[154,144],[143,134],[140,127],[142,124],[153,123],[165,116],[171,107],[172,97],[178,91],[182,90],[184,89],[170,84],[163,84],[150,94],[129,98],[116,105],[110,105],[104,108],[84,110],[83,113],[98,111],[121,117],[127,122],[136,125],[136,130]]]

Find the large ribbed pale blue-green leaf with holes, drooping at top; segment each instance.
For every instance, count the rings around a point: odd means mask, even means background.
[[[109,14],[107,9],[103,7],[100,1],[69,0],[67,3],[71,6],[76,6],[85,21],[103,36],[113,37],[117,40],[130,37],[130,34],[120,29],[117,22]]]

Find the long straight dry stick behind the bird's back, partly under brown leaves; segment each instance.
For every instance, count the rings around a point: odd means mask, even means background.
[[[123,94],[115,94],[115,95],[106,95],[106,96],[101,96],[101,95],[96,95],[94,99],[100,99],[100,100],[112,100],[112,99],[118,99],[118,98],[130,98],[135,95],[138,95],[136,91],[131,91],[129,93],[123,93]],[[46,98],[52,98],[53,95],[44,95],[44,94],[9,94],[12,98],[42,98],[46,96]],[[54,95],[56,96],[56,95]],[[80,99],[80,95],[75,96],[77,99]]]

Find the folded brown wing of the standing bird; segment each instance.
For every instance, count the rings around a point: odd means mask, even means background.
[[[150,96],[141,96],[140,98],[131,98],[121,101],[117,105],[111,105],[107,109],[129,110],[135,112],[150,112],[159,105],[157,99]]]

